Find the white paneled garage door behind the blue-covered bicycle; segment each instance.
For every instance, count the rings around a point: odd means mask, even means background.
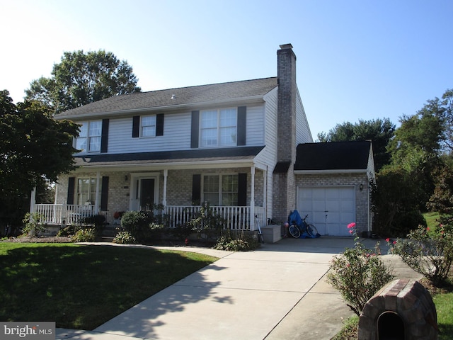
[[[347,228],[355,222],[355,189],[353,186],[300,186],[297,188],[297,210],[302,218],[316,225],[319,234],[350,236]]]

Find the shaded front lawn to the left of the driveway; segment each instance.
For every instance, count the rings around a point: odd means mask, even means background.
[[[216,260],[125,246],[0,243],[0,320],[91,330]]]

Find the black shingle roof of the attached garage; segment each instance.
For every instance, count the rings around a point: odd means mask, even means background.
[[[371,141],[297,145],[294,170],[366,170]]]

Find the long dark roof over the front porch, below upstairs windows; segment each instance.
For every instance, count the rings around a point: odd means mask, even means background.
[[[127,166],[135,164],[155,164],[178,162],[208,162],[253,159],[264,146],[229,147],[222,149],[193,149],[161,152],[134,152],[127,154],[90,154],[75,156],[76,166]]]

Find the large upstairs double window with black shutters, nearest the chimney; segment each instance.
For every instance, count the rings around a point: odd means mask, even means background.
[[[200,146],[236,146],[236,108],[202,111],[200,113]]]

